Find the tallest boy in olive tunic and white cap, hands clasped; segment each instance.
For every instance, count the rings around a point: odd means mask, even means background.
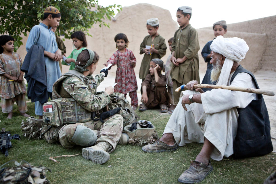
[[[189,20],[192,16],[192,8],[189,6],[181,6],[176,12],[179,29],[175,32],[172,43],[173,68],[171,76],[173,80],[173,97],[177,104],[180,93],[175,92],[175,89],[182,84],[187,84],[189,81],[199,79],[199,42],[198,33],[193,28]]]

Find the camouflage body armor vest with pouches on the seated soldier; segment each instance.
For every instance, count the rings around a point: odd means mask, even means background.
[[[96,84],[84,77],[81,73],[70,70],[68,73],[62,75],[53,85],[53,99],[43,104],[43,123],[41,135],[48,143],[55,142],[58,137],[58,132],[64,124],[75,124],[91,121],[93,117],[100,117],[100,113],[104,112],[101,109],[98,112],[90,112],[83,108],[73,98],[62,98],[58,91],[62,86],[62,82],[70,76],[75,76],[88,86],[91,93],[96,94]],[[139,116],[129,105],[129,101],[122,93],[113,93],[110,95],[111,100],[108,104],[108,110],[114,108],[121,108],[119,114],[123,117],[124,127],[139,120]]]

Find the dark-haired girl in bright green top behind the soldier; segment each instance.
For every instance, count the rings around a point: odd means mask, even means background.
[[[79,53],[81,53],[81,51],[83,51],[87,47],[87,41],[86,41],[84,32],[82,32],[82,31],[74,32],[71,35],[71,39],[73,40],[73,44],[76,47],[76,49],[74,49],[71,52],[71,54],[67,57],[67,59],[65,61],[62,61],[63,65],[70,64],[69,70],[73,70],[75,68],[75,66],[76,66],[75,62],[76,62],[76,59],[77,59]]]

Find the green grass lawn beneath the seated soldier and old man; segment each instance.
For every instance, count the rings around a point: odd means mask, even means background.
[[[27,113],[34,116],[34,104],[27,105]],[[170,115],[160,114],[159,110],[136,111],[141,119],[149,120],[155,125],[161,137]],[[175,152],[150,154],[142,152],[139,146],[118,145],[110,154],[110,160],[103,165],[85,160],[81,154],[56,158],[60,162],[56,163],[49,156],[79,154],[81,147],[67,150],[59,143],[28,141],[20,129],[20,123],[25,118],[20,116],[16,105],[13,118],[6,118],[7,114],[1,111],[0,128],[6,128],[12,134],[20,134],[21,140],[12,140],[13,147],[9,150],[8,157],[0,154],[0,165],[14,159],[26,160],[34,166],[46,166],[52,171],[47,173],[47,179],[51,183],[178,183],[178,177],[189,167],[190,161],[196,158],[202,147],[202,144],[190,143]],[[263,183],[276,170],[275,159],[276,154],[270,153],[255,158],[211,160],[214,170],[201,183]]]

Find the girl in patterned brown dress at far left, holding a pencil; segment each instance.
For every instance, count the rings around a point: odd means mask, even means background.
[[[3,113],[9,113],[7,119],[12,118],[14,101],[22,116],[28,108],[26,104],[26,85],[23,80],[24,72],[20,71],[23,64],[20,55],[14,53],[14,38],[8,35],[0,36],[0,97]]]

